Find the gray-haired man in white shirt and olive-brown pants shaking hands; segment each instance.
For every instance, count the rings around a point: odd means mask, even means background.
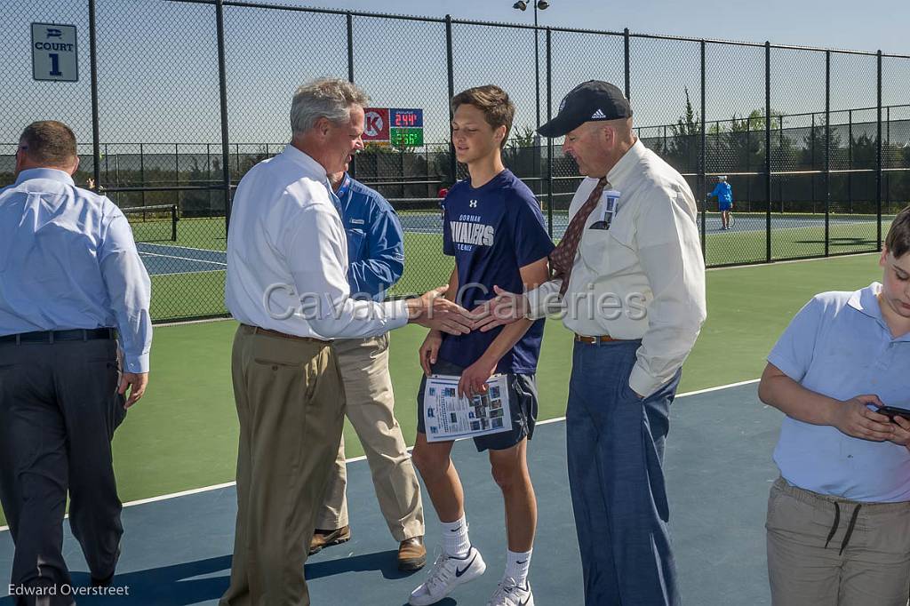
[[[345,80],[300,86],[293,137],[241,180],[227,233],[231,369],[240,422],[229,604],[309,604],[310,537],[339,449],[345,393],[331,340],[409,322],[470,332],[444,288],[377,303],[350,298],[348,247],[328,175],[363,147],[368,97]]]

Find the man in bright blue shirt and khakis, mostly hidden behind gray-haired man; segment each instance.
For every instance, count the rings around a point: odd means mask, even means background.
[[[352,298],[385,298],[404,270],[404,242],[399,219],[378,192],[347,172],[329,176],[348,237],[348,283]],[[399,541],[402,571],[423,567],[423,505],[420,483],[395,419],[389,376],[389,334],[334,341],[348,399],[346,414],[363,444],[373,476],[379,509]],[[317,514],[310,553],[350,539],[344,438],[329,477],[325,503]]]

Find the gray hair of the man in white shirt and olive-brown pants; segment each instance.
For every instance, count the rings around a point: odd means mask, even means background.
[[[369,96],[359,86],[340,78],[319,78],[300,86],[290,106],[290,127],[295,135],[305,133],[319,118],[335,124],[350,119],[350,106],[365,106]]]

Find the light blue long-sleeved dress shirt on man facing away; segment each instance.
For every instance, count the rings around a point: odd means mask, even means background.
[[[127,372],[148,371],[151,285],[126,217],[53,168],[0,190],[0,336],[116,328]]]

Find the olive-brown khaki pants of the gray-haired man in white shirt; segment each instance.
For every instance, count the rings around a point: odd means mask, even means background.
[[[308,606],[303,565],[344,427],[329,343],[240,326],[231,370],[240,421],[238,514],[222,606]]]

